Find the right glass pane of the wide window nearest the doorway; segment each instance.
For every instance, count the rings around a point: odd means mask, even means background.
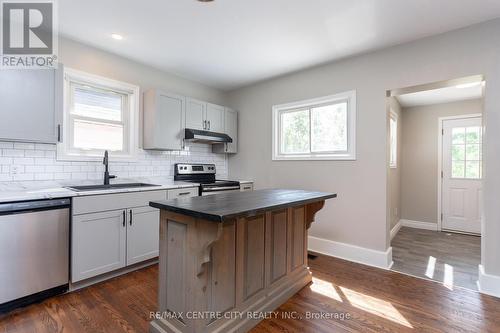
[[[347,102],[311,109],[311,151],[347,151]]]

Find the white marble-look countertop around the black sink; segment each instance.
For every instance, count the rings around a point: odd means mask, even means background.
[[[32,182],[31,184],[27,184],[25,182],[0,183],[0,203],[26,201],[26,200],[39,200],[39,199],[70,198],[77,196],[100,195],[100,194],[111,194],[111,193],[171,190],[176,188],[188,188],[188,187],[199,186],[199,184],[197,183],[176,182],[173,180],[168,180],[168,179],[165,180],[158,178],[127,179],[127,180],[122,179],[120,182],[112,182],[112,184],[119,184],[119,183],[147,183],[147,184],[155,184],[158,186],[76,192],[67,189],[64,186],[95,185],[98,184],[98,182],[91,182],[91,181],[85,181],[85,182],[73,181],[68,183]]]

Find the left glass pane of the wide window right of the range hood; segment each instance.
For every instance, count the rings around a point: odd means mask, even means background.
[[[309,110],[281,114],[282,151],[286,154],[309,152]]]

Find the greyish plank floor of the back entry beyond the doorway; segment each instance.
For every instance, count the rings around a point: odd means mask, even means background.
[[[393,270],[477,290],[481,237],[403,227],[391,246]]]

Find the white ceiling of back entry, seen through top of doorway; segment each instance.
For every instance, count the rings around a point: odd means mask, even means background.
[[[399,104],[404,107],[434,105],[441,103],[451,103],[465,101],[469,99],[481,98],[483,96],[483,86],[477,85],[468,88],[447,87],[433,90],[420,91],[411,94],[396,96]]]

